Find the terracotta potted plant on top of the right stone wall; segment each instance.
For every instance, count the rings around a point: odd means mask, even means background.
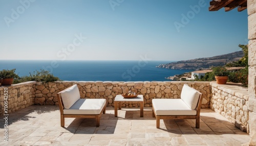
[[[216,66],[212,67],[212,73],[215,75],[215,79],[217,81],[217,84],[226,84],[229,71],[224,66]]]

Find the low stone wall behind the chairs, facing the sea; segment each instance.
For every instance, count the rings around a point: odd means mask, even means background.
[[[202,108],[209,108],[210,84],[209,82],[55,82],[36,83],[35,105],[58,105],[56,94],[74,84],[78,85],[81,98],[106,99],[108,106],[114,106],[114,98],[117,94],[126,93],[129,90],[144,96],[144,106],[152,107],[153,98],[180,98],[183,84],[197,89],[203,95]],[[123,107],[138,107],[138,104],[123,104]]]

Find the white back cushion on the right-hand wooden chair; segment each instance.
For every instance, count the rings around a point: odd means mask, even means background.
[[[200,93],[194,89],[189,87],[187,84],[183,85],[181,91],[181,99],[187,104],[191,110],[196,109],[198,101],[199,101]]]

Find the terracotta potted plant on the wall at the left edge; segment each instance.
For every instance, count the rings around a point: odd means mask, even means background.
[[[3,69],[0,71],[0,80],[3,86],[10,86],[13,82],[13,79],[18,78],[18,75],[15,74],[15,70],[16,69]]]

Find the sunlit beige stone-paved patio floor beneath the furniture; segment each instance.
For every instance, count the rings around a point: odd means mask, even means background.
[[[4,141],[4,116],[1,117],[0,145],[248,145],[250,136],[226,118],[201,109],[200,129],[194,119],[160,120],[152,117],[152,108],[122,108],[118,117],[107,107],[100,127],[95,119],[65,118],[60,127],[57,106],[30,106],[8,117],[9,139]]]

